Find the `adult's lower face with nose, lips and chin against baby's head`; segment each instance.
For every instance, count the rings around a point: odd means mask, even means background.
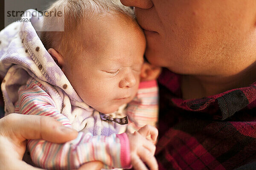
[[[255,0],[121,0],[134,6],[151,64],[180,74],[244,69],[256,41]],[[246,60],[246,59],[245,59]],[[246,64],[247,63],[247,64]],[[235,72],[235,71],[234,71]]]

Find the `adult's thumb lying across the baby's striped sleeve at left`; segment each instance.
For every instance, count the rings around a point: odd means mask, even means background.
[[[0,119],[0,134],[9,136],[17,140],[16,142],[44,139],[49,142],[64,143],[75,139],[78,132],[48,116],[12,113]]]

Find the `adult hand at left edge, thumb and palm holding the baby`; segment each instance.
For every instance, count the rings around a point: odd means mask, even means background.
[[[0,119],[0,170],[41,170],[22,161],[26,139],[64,143],[77,135],[48,116],[9,114]]]

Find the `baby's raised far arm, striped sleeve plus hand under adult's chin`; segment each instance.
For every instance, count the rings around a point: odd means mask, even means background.
[[[140,86],[135,98],[128,103],[129,124],[127,132],[133,133],[144,125],[157,126],[158,86],[161,68],[144,62],[140,73]]]

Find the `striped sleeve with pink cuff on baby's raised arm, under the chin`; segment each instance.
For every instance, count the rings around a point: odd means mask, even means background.
[[[156,80],[140,82],[135,98],[128,103],[128,133],[133,133],[144,125],[157,126],[158,86]]]

